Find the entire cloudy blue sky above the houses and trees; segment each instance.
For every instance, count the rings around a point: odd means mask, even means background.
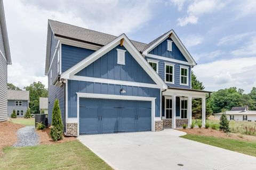
[[[13,6],[15,4],[15,6]],[[206,90],[256,87],[256,1],[4,0],[13,64],[9,82],[44,75],[47,19],[149,43],[173,29],[195,58]]]

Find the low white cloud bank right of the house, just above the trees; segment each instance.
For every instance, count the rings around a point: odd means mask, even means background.
[[[249,92],[256,86],[256,57],[220,60],[199,64],[193,71],[202,81],[206,90],[219,90],[229,87],[242,88]]]

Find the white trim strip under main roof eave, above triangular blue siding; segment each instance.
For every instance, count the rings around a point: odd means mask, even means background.
[[[95,50],[95,51],[97,51],[98,49],[101,48],[101,46],[92,45],[92,44],[89,44],[89,43],[83,43],[83,42],[76,41],[76,40],[71,40],[71,39],[68,39],[68,38],[62,38],[62,37],[58,37],[58,36],[55,36],[55,38],[60,40],[61,44],[66,44],[66,45],[69,45],[69,46],[92,49],[92,50]]]

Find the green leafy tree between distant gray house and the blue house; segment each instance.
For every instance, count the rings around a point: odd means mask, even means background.
[[[29,91],[29,107],[31,113],[39,114],[39,97],[48,97],[48,90],[41,82],[33,82],[30,86],[24,87],[25,90]]]

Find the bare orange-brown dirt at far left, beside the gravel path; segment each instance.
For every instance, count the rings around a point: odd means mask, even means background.
[[[0,155],[4,147],[12,146],[17,142],[17,131],[23,127],[25,126],[9,121],[0,122]]]

